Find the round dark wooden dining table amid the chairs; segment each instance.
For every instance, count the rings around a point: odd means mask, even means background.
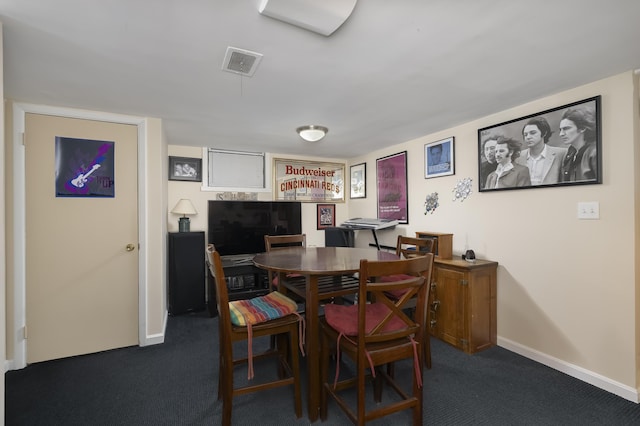
[[[306,358],[308,372],[307,400],[309,420],[317,420],[320,409],[320,301],[318,278],[358,272],[360,259],[396,260],[395,253],[374,248],[295,247],[257,254],[253,263],[261,269],[278,273],[282,282],[286,274],[305,277]]]

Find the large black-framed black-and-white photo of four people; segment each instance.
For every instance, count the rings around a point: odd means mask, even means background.
[[[600,96],[478,129],[480,192],[602,183]]]

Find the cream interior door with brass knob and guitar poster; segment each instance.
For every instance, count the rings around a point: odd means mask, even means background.
[[[113,197],[56,196],[56,137],[113,142]],[[27,363],[138,344],[137,144],[135,125],[26,114]]]

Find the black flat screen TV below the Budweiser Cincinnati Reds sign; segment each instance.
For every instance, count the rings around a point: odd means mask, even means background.
[[[265,251],[265,235],[302,233],[296,201],[209,200],[209,243],[221,256]]]

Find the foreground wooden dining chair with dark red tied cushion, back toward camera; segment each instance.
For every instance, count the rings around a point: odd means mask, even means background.
[[[321,364],[322,391],[320,418],[327,418],[328,397],[332,397],[354,424],[366,422],[401,410],[413,411],[413,424],[422,425],[422,345],[427,321],[428,280],[433,267],[433,254],[427,253],[411,259],[394,261],[360,261],[360,290],[358,300],[372,303],[356,305],[327,305],[325,317],[321,319]],[[404,275],[406,279],[381,282],[389,275]],[[399,299],[389,294],[403,290]],[[412,298],[417,300],[415,314],[407,315],[406,305]],[[354,321],[354,319],[357,319]],[[336,354],[335,379],[329,379],[329,362]],[[356,365],[355,376],[339,380],[340,356],[348,356]],[[398,380],[383,366],[396,361],[410,359],[413,379],[407,391],[407,378]],[[374,380],[375,407],[367,407],[365,400],[366,380]],[[382,385],[390,385],[398,398],[381,402]],[[345,395],[355,388],[356,407]],[[352,391],[353,392],[353,391]]]

